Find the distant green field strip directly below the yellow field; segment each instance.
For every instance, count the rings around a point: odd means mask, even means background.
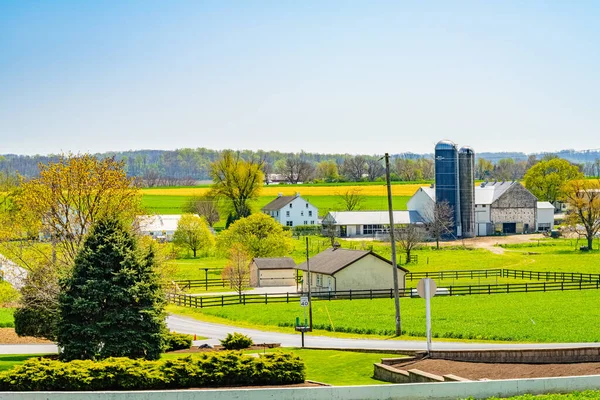
[[[142,207],[148,213],[153,214],[181,214],[184,212],[184,206],[193,196],[177,196],[177,195],[155,195],[144,194],[142,197]],[[319,209],[319,217],[324,217],[329,211],[341,211],[344,209],[343,204],[335,195],[331,196],[302,196],[304,199],[311,202]],[[275,199],[274,196],[259,197],[253,204],[255,212],[260,211],[262,207]],[[406,203],[410,196],[394,196],[394,209],[406,210]],[[361,210],[387,210],[387,198],[385,196],[364,196],[361,203]]]

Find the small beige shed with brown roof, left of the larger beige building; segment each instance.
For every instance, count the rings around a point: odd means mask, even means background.
[[[250,286],[296,285],[296,263],[290,257],[254,258],[250,263]]]

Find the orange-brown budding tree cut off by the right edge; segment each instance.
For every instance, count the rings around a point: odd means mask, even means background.
[[[563,193],[570,206],[568,223],[576,231],[583,231],[591,250],[600,232],[600,180],[575,179],[565,185]]]

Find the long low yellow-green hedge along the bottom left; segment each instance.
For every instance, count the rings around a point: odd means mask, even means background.
[[[302,383],[304,363],[289,353],[260,357],[239,352],[203,354],[174,360],[61,362],[31,359],[0,373],[0,391],[156,390]]]

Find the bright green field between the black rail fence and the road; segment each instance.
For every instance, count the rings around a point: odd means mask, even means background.
[[[436,338],[519,342],[600,341],[600,291],[566,291],[435,297],[432,330]],[[169,306],[169,310],[199,319],[293,332],[301,307],[293,303],[249,304],[204,309]],[[419,298],[401,300],[405,336],[425,336],[425,304]],[[316,329],[391,337],[391,299],[315,301]],[[200,332],[201,333],[201,332]]]

